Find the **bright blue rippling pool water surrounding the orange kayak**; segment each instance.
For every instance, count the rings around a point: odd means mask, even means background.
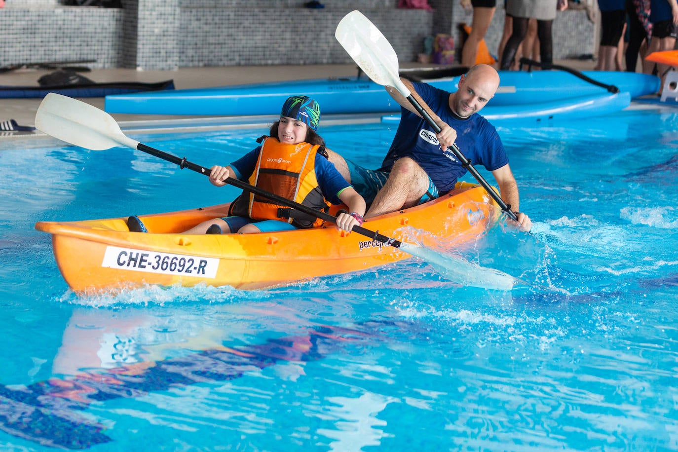
[[[678,449],[678,113],[498,126],[534,232],[501,223],[458,252],[531,285],[512,292],[412,259],[78,297],[35,222],[237,191],[126,148],[3,143],[0,450]],[[209,167],[265,131],[129,135]],[[394,134],[319,131],[371,167]]]

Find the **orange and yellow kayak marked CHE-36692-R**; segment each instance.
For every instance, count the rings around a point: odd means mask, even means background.
[[[497,220],[500,209],[495,206],[481,186],[460,182],[439,199],[372,218],[363,226],[403,242],[433,245],[433,234],[459,245],[475,240]],[[141,215],[148,233],[129,232],[126,218],[37,222],[35,228],[52,234],[61,274],[73,291],[85,294],[199,283],[261,289],[411,257],[334,224],[258,234],[181,232],[224,216],[227,209],[224,204]]]

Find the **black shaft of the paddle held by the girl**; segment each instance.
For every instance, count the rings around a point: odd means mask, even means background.
[[[136,148],[142,152],[146,152],[147,154],[151,154],[165,161],[174,163],[175,165],[179,165],[181,169],[188,168],[191,169],[191,171],[204,174],[205,176],[210,176],[211,171],[209,168],[205,168],[200,165],[197,165],[196,163],[192,163],[186,160],[186,157],[179,158],[176,157],[176,155],[168,154],[167,152],[151,148],[151,146],[146,146],[146,144],[142,143],[137,144]],[[234,187],[241,188],[248,192],[258,194],[259,196],[264,197],[266,199],[270,199],[271,201],[277,203],[278,205],[286,205],[287,207],[292,207],[292,209],[296,209],[300,212],[312,215],[315,218],[320,218],[323,221],[336,224],[337,221],[336,217],[330,215],[329,213],[312,209],[311,207],[308,207],[300,203],[296,203],[287,198],[283,198],[275,193],[267,192],[266,190],[262,190],[261,188],[247,184],[246,182],[243,182],[241,180],[229,177],[226,180],[224,180],[224,182],[226,182],[226,184],[233,185]],[[358,234],[364,235],[365,237],[369,237],[372,240],[381,242],[384,245],[400,248],[401,245],[400,241],[397,241],[396,239],[391,239],[391,237],[386,237],[385,235],[380,234],[378,231],[374,232],[372,230],[363,228],[362,226],[353,226],[352,230],[353,232],[357,232]]]

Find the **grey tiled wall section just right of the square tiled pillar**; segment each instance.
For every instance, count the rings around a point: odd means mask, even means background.
[[[179,63],[226,66],[351,62],[334,38],[336,25],[349,11],[327,7],[182,7]],[[411,9],[363,12],[383,31],[404,61],[416,58],[433,23],[433,14]]]

